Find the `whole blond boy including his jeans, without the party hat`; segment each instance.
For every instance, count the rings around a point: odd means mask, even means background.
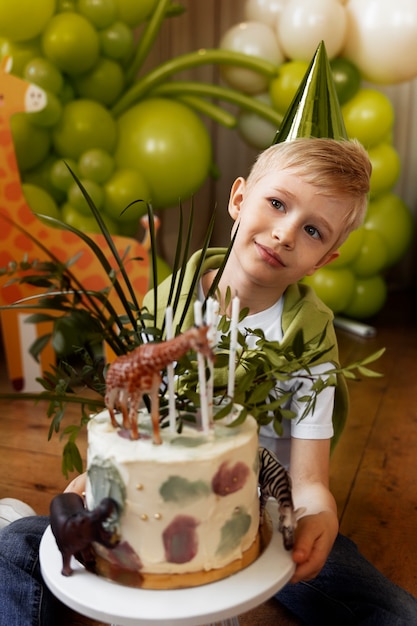
[[[249,309],[241,331],[245,327],[261,328],[268,340],[278,340],[282,345],[300,327],[308,339],[309,334],[316,334],[316,328],[323,330],[327,324],[323,345],[331,350],[326,362],[312,370],[316,375],[328,369],[330,362],[337,362],[332,313],[298,281],[334,260],[338,247],[361,223],[370,173],[367,153],[355,142],[296,139],[267,149],[248,179],[238,178],[232,186],[228,208],[234,220],[232,232],[238,230],[216,294],[221,312],[230,314],[225,305],[230,289],[232,295],[239,296],[241,307]],[[209,251],[195,298],[204,299],[224,253],[221,249]],[[175,319],[187,298],[196,256],[198,253],[188,264]],[[159,322],[165,314],[168,285],[158,288]],[[151,294],[145,305],[152,308]],[[191,307],[183,329],[193,321]],[[304,378],[300,382],[305,385]],[[278,450],[281,460],[289,452],[295,506],[304,510],[292,552],[295,573],[277,597],[303,623],[314,626],[417,624],[417,600],[383,577],[352,542],[338,535],[336,504],[329,490],[329,456],[335,427],[339,428],[347,408],[345,404],[339,413],[343,405],[337,398],[340,391],[344,391],[343,386],[338,386],[336,392],[332,387],[324,390],[314,412],[302,421],[292,420],[283,437],[278,439],[271,429],[261,433],[263,443]],[[304,386],[294,394],[293,410],[299,409],[297,394],[299,397],[305,392]],[[343,401],[344,393],[341,397]],[[69,489],[81,493],[83,483],[83,477],[79,477]],[[39,599],[39,590],[43,589],[39,572],[27,568],[28,554],[32,565],[36,561],[40,535],[48,523],[47,518],[41,518],[44,521],[39,525],[38,519],[26,518],[26,523],[22,519],[0,531],[0,580],[5,576],[11,580],[13,570],[13,588],[24,590],[26,597],[37,603],[36,608],[41,604],[48,612],[50,597],[43,603]],[[11,551],[17,555],[13,563],[9,560]],[[3,600],[5,616],[12,614],[12,602],[7,593]],[[36,623],[25,621],[21,614],[20,620],[9,620],[7,624]],[[3,624],[6,622],[0,617]]]

